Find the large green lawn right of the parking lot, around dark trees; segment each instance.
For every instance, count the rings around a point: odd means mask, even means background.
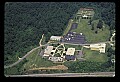
[[[85,39],[88,43],[95,43],[95,42],[104,42],[109,40],[110,31],[109,27],[106,24],[103,24],[103,31],[102,29],[98,29],[98,33],[95,33],[97,29],[98,20],[94,20],[94,30],[91,30],[91,25],[88,25],[89,19],[81,19],[80,23],[78,23],[77,29],[72,30],[72,32],[83,33],[85,35]]]

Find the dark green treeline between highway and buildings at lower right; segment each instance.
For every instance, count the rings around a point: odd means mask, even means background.
[[[110,61],[105,63],[91,61],[76,61],[68,63],[65,63],[68,67],[68,72],[73,73],[110,72],[115,70],[115,68],[112,68],[114,64]]]

